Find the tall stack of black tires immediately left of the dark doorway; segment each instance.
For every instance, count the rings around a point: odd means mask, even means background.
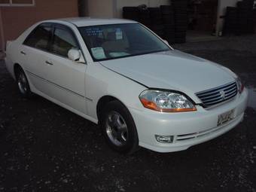
[[[175,16],[175,43],[186,42],[187,0],[172,0]]]

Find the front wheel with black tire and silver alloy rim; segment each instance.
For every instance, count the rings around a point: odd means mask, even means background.
[[[121,102],[108,102],[101,116],[102,133],[114,151],[133,154],[139,149],[136,124]]]

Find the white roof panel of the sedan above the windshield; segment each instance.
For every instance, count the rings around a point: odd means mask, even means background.
[[[66,21],[69,23],[73,23],[75,26],[100,26],[100,25],[108,25],[108,24],[123,24],[123,23],[137,23],[134,20],[123,20],[123,19],[99,19],[99,18],[91,18],[91,17],[71,17],[71,18],[63,18],[59,19],[62,21]]]

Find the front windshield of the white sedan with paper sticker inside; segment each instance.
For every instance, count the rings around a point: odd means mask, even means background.
[[[80,27],[94,61],[170,50],[139,23]]]

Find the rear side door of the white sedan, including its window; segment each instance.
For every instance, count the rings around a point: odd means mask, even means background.
[[[30,83],[41,93],[47,91],[47,52],[52,38],[53,27],[50,23],[37,26],[23,42],[20,55]]]

